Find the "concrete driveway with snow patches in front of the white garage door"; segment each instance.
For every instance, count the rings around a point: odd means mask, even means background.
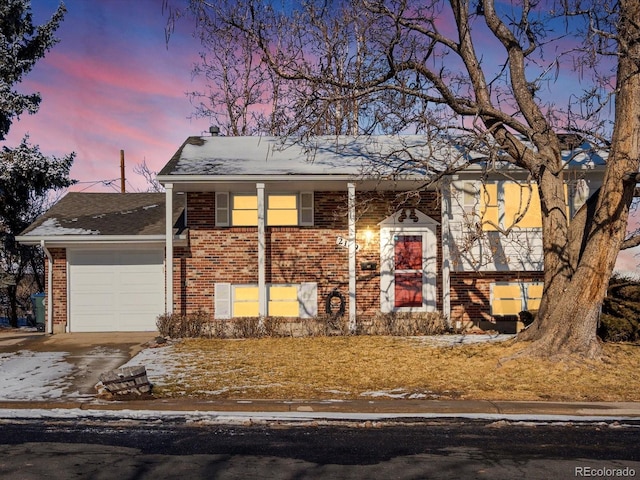
[[[157,335],[0,330],[0,400],[93,398],[101,373],[127,363]]]

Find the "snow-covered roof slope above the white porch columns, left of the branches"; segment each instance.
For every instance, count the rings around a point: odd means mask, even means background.
[[[415,175],[464,160],[451,143],[424,135],[280,137],[189,137],[158,177],[303,175],[377,177]],[[429,160],[427,163],[426,160]],[[164,178],[163,178],[164,177]]]

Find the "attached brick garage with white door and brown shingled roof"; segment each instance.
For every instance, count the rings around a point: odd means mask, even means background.
[[[184,197],[173,244],[186,244]],[[165,313],[164,193],[69,192],[17,240],[46,255],[46,331],[156,331]]]

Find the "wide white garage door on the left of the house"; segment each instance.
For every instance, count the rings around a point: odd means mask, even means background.
[[[162,250],[69,252],[72,332],[153,331],[164,311]]]

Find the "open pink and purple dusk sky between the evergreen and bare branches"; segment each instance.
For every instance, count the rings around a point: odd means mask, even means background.
[[[35,24],[50,19],[59,3],[32,0]],[[76,152],[75,191],[118,191],[124,150],[127,190],[143,190],[144,179],[133,172],[136,164],[146,161],[159,170],[188,136],[208,131],[208,120],[188,118],[193,108],[186,92],[198,89],[191,71],[199,42],[179,23],[166,44],[162,0],[65,4],[60,42],[18,87],[41,93],[40,110],[14,121],[4,144],[15,146],[29,133],[45,155]],[[559,83],[567,88],[571,82]],[[637,214],[632,222],[638,223]],[[621,254],[620,270],[637,274],[634,253]]]

